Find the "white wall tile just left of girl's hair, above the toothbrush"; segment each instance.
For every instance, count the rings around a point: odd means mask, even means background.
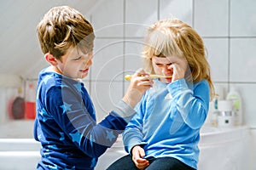
[[[125,40],[125,73],[133,74],[143,67],[143,38]]]

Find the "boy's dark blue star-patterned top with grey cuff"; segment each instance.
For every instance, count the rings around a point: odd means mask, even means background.
[[[84,83],[41,71],[34,125],[34,137],[42,144],[37,168],[94,169],[97,158],[116,141],[134,113],[121,101],[115,111],[96,124],[95,109]]]

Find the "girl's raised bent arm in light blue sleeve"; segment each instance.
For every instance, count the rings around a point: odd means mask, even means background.
[[[191,128],[199,128],[207,118],[210,88],[206,80],[193,84],[190,89],[185,79],[168,85],[168,90],[177,103],[177,111]]]

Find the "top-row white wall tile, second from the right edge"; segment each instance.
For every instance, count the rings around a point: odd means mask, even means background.
[[[195,29],[204,37],[229,35],[229,0],[195,0]]]

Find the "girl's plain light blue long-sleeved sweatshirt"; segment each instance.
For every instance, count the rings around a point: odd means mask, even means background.
[[[196,169],[209,100],[206,80],[190,85],[184,79],[169,84],[154,81],[125,128],[125,150],[131,154],[131,148],[140,144],[145,158],[170,156]]]

